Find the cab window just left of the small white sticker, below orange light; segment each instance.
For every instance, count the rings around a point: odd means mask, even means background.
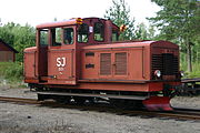
[[[89,27],[83,23],[78,29],[78,42],[88,42]]]

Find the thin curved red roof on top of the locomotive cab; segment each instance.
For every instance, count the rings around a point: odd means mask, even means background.
[[[64,21],[57,21],[57,22],[47,22],[47,23],[41,23],[37,25],[37,29],[44,29],[44,28],[56,28],[56,27],[64,27],[64,25],[73,25],[78,24],[78,19],[81,18],[72,18],[70,20],[64,20]],[[81,19],[82,21],[91,20],[91,19],[98,19],[102,21],[107,21],[106,19],[100,19],[100,18],[83,18]]]

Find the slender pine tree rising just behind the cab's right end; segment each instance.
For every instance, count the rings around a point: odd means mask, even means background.
[[[112,7],[106,11],[104,18],[110,19],[118,27],[126,25],[127,30],[120,34],[120,40],[132,40],[134,35],[134,19],[130,19],[130,8],[124,0],[112,0]]]

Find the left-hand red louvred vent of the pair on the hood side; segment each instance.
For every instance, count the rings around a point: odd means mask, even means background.
[[[111,53],[100,54],[100,74],[101,75],[111,74]]]

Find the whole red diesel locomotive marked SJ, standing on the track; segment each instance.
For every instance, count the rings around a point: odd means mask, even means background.
[[[37,25],[24,50],[24,82],[38,99],[77,103],[103,99],[172,110],[180,85],[179,47],[168,41],[118,41],[120,28],[99,18]]]

